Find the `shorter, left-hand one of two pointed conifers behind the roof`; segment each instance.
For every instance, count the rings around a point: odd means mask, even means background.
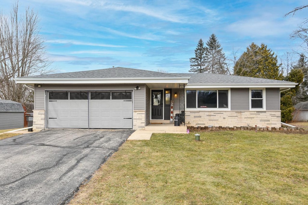
[[[195,57],[189,58],[191,73],[204,73],[205,68],[205,48],[202,39],[200,38],[197,48],[195,49]]]

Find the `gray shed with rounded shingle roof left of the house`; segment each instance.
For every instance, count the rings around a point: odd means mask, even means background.
[[[22,104],[11,100],[0,100],[0,130],[23,127]]]

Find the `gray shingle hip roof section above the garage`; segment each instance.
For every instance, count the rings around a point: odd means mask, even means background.
[[[23,78],[163,78],[177,77],[168,73],[160,73],[150,70],[139,70],[133,68],[107,68],[100,70],[87,70],[71,73],[47,74],[27,76]]]

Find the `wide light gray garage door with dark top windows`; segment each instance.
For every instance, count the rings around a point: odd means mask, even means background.
[[[132,129],[132,91],[50,91],[48,128]]]

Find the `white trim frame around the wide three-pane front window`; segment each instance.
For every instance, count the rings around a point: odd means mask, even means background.
[[[186,100],[186,90],[196,90],[196,108],[187,108],[187,100]],[[217,90],[217,108],[207,108],[207,107],[197,107],[197,103],[198,103],[198,90]],[[228,90],[228,108],[218,108],[218,90]],[[230,88],[212,88],[212,89],[185,89],[185,110],[187,111],[227,111],[227,110],[231,110],[231,89]]]

